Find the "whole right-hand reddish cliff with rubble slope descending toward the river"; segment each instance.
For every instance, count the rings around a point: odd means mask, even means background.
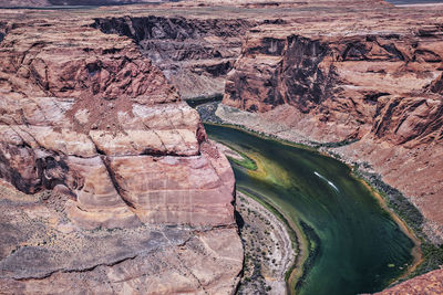
[[[430,236],[443,241],[443,34],[441,25],[418,21],[443,13],[387,10],[396,17],[357,10],[330,24],[332,13],[320,11],[316,23],[298,15],[298,27],[254,28],[223,102],[264,113],[313,141],[359,140],[336,151],[369,162],[409,196]]]

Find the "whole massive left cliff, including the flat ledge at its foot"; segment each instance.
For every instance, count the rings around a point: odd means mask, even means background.
[[[0,43],[0,289],[231,293],[229,162],[133,41],[68,17]]]

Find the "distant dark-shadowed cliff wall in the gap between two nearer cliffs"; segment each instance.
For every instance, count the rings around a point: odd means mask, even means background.
[[[95,19],[94,27],[133,39],[184,98],[195,98],[224,93],[241,36],[253,24],[243,19],[151,15]]]

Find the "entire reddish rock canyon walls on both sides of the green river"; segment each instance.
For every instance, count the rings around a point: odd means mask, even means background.
[[[234,175],[182,98],[329,147],[441,244],[442,23],[382,0],[1,10],[1,291],[235,292]]]

